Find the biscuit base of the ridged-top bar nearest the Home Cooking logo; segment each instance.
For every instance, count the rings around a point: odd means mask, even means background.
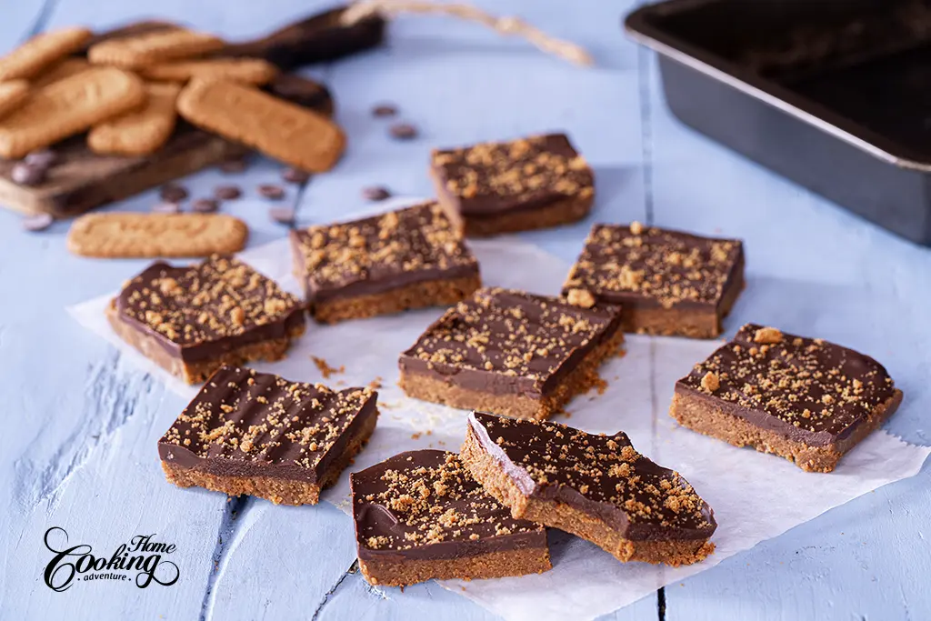
[[[377,422],[378,412],[376,411],[349,439],[343,454],[332,463],[316,483],[305,480],[279,479],[277,477],[217,475],[206,472],[200,467],[189,468],[167,461],[162,461],[162,469],[165,470],[165,476],[169,479],[169,482],[178,487],[203,487],[230,496],[245,493],[270,500],[276,505],[316,505],[320,499],[320,491],[330,487],[340,478],[340,475],[352,462],[353,457],[369,441],[371,432],[375,430]]]

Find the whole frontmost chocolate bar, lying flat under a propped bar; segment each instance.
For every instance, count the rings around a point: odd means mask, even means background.
[[[513,519],[506,506],[482,491],[455,453],[402,452],[354,473],[350,481],[358,558],[372,584],[549,569],[546,530]],[[533,558],[532,567],[514,562],[520,552],[524,560]],[[450,561],[460,565],[458,571],[449,571]]]

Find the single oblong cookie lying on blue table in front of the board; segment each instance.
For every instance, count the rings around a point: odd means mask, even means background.
[[[206,257],[242,250],[249,227],[219,213],[88,213],[71,225],[68,250],[83,257]]]

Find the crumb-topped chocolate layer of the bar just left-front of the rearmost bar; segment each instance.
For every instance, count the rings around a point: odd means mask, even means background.
[[[293,231],[291,244],[309,304],[479,274],[436,202]]]

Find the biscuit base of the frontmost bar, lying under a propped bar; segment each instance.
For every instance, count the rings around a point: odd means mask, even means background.
[[[401,554],[392,556],[398,559]],[[552,569],[548,547],[486,552],[459,559],[359,559],[358,566],[369,584],[385,587],[406,587],[433,578],[479,580],[543,574]]]

